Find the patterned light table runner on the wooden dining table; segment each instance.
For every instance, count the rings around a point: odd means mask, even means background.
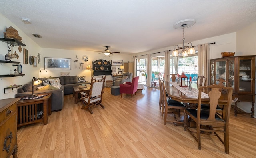
[[[191,88],[191,91],[188,90],[188,87],[180,87],[177,82],[170,82],[172,86],[180,90],[182,93],[184,93],[189,98],[198,98],[198,91],[195,88]],[[201,98],[209,98],[208,94],[201,92]]]

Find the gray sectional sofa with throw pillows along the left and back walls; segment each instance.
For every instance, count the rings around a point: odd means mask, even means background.
[[[73,86],[80,84],[90,84],[90,82],[80,82],[78,83],[78,76],[60,76],[54,77],[60,79],[60,84],[62,85],[60,89],[52,89],[52,90],[40,90],[38,91],[39,86],[44,86],[43,83],[34,86],[34,93],[52,93],[52,111],[62,110],[64,104],[64,95],[73,93]],[[38,78],[41,81],[46,81],[47,78]],[[15,97],[29,96],[32,94],[32,82],[25,84],[22,88],[17,90],[17,94]]]

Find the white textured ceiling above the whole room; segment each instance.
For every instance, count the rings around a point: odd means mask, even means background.
[[[196,20],[186,43],[236,32],[256,21],[256,1],[0,0],[0,12],[42,48],[129,54],[182,44],[184,19]]]

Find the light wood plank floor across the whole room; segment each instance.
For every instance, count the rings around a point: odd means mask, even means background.
[[[159,89],[146,88],[123,98],[105,88],[94,114],[64,96],[64,108],[48,116],[48,124],[18,128],[19,158],[252,158],[256,155],[256,118],[230,116],[229,155],[216,136],[202,136],[202,150],[181,126],[164,125]],[[170,118],[170,117],[169,117]]]

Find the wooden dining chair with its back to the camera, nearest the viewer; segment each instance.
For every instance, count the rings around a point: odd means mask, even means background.
[[[226,94],[222,93],[220,88],[226,89]],[[204,99],[201,98],[201,93],[204,90],[208,90],[210,105],[209,110],[201,109],[201,103]],[[210,85],[206,87],[199,87],[198,92],[198,108],[197,109],[186,109],[184,118],[184,127],[190,132],[190,134],[195,138],[198,144],[198,149],[201,150],[201,134],[209,134],[217,136],[222,144],[224,144],[225,152],[229,152],[229,139],[228,139],[228,122],[230,116],[230,108],[232,101],[232,87],[223,87],[220,85]],[[223,117],[221,118],[216,114],[216,107],[218,104],[224,104],[223,107]],[[188,115],[196,122],[196,131],[192,128],[188,128]],[[206,128],[208,127],[208,128]],[[196,133],[196,135],[194,134]],[[224,140],[221,138],[219,133],[224,133]]]

